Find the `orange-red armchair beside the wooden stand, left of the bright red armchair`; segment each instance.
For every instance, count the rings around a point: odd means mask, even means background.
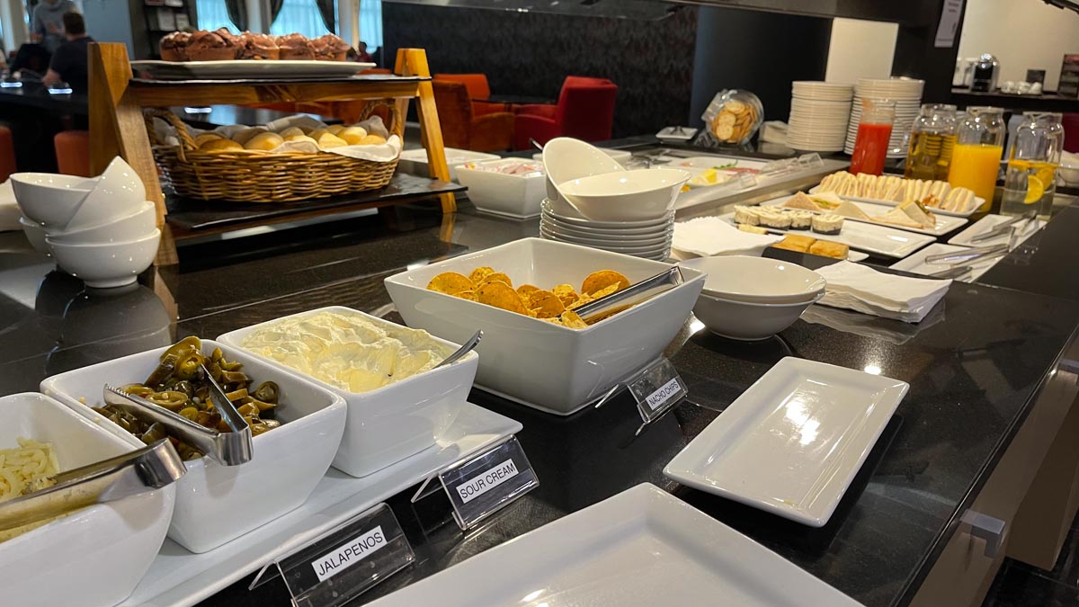
[[[475,151],[509,149],[514,138],[513,113],[500,111],[475,116],[464,84],[435,80],[432,85],[446,146]]]

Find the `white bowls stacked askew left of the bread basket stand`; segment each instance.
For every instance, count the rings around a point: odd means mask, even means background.
[[[123,159],[100,177],[16,173],[11,184],[30,243],[87,286],[132,284],[153,262],[161,240],[158,212]]]

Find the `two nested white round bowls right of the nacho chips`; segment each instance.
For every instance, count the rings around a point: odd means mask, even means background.
[[[740,341],[767,339],[791,326],[827,286],[812,270],[767,257],[698,257],[679,265],[708,273],[693,307],[697,320]]]

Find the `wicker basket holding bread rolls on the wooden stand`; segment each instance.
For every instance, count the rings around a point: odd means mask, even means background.
[[[364,120],[380,108],[388,108],[391,133],[401,135],[404,119],[388,102],[372,102],[364,109]],[[176,130],[181,144],[166,146],[151,125],[154,117]],[[313,198],[375,190],[390,183],[398,159],[390,162],[359,160],[344,156],[274,152],[200,152],[194,138],[175,113],[147,110],[145,113],[154,160],[176,193],[202,200],[228,202],[296,202]]]

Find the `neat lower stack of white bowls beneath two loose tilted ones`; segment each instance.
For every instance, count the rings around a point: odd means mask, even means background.
[[[549,200],[541,205],[540,235],[547,240],[568,242],[624,253],[634,257],[664,261],[670,257],[674,233],[674,212],[659,219],[642,221],[593,221],[584,217],[556,212]]]

